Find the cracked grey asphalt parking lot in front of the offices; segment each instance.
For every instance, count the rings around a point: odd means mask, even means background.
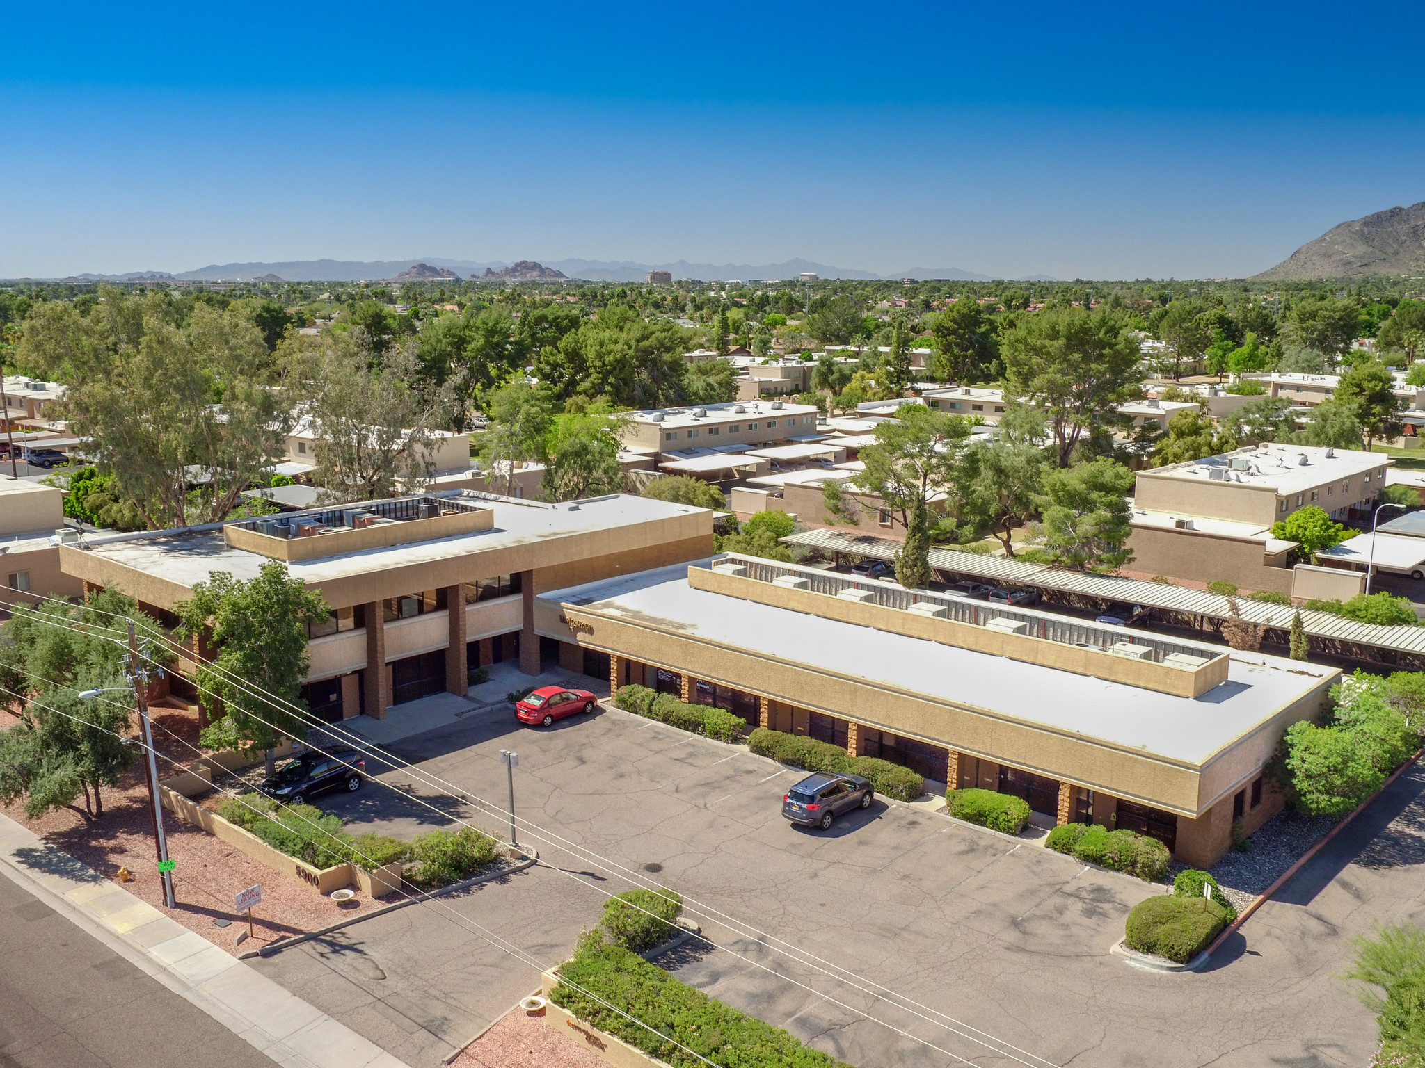
[[[1033,842],[879,802],[829,833],[794,829],[799,772],[604,709],[550,731],[490,711],[393,743],[399,756],[661,881],[710,946],[680,978],[864,1068],[1364,1065],[1372,1017],[1337,975],[1375,920],[1425,921],[1425,770],[1412,769],[1197,974],[1140,971],[1109,947],[1154,887]],[[383,776],[412,785],[409,770]],[[409,834],[460,815],[368,787],[323,800],[355,827]],[[598,917],[617,870],[534,843],[544,864],[255,961],[416,1068],[499,1018]],[[543,836],[540,836],[543,837]],[[483,930],[482,930],[483,928]],[[504,943],[502,947],[500,943]]]

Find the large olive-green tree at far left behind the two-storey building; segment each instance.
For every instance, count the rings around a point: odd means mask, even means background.
[[[197,305],[185,325],[161,293],[103,288],[90,315],[47,300],[21,360],[68,384],[61,413],[115,498],[151,530],[215,523],[282,457],[288,423],[262,335]]]

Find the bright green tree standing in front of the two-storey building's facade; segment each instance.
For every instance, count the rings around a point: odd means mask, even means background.
[[[301,692],[311,668],[308,624],[326,622],[326,601],[308,592],[285,564],[268,560],[247,581],[214,571],[174,608],[181,619],[174,634],[217,651],[211,662],[198,664],[194,676],[209,718],[202,743],[239,752],[262,749],[271,775],[272,749],[284,738],[306,738],[306,722],[289,706],[308,711]]]

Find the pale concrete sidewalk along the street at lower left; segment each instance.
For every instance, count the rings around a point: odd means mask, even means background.
[[[7,816],[0,873],[281,1065],[406,1068]]]

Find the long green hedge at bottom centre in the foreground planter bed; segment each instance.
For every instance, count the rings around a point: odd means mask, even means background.
[[[556,1005],[674,1068],[849,1068],[620,946],[584,941],[559,975],[550,991]]]

